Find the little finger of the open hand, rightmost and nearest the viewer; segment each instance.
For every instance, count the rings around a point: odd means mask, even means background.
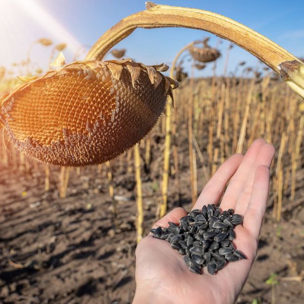
[[[258,239],[269,191],[269,167],[260,165],[257,167],[252,194],[248,208],[244,215],[243,227]]]

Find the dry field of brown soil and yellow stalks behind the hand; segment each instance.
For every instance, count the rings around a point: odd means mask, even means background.
[[[302,99],[268,76],[183,82],[174,92],[172,150],[176,147],[177,153],[171,151],[170,155],[169,209],[178,205],[191,208],[187,130],[191,94],[192,165],[198,191],[225,159],[235,151],[245,151],[256,138],[265,138],[277,150],[257,261],[238,303],[301,303]],[[165,115],[139,146],[144,235],[162,201],[164,133]],[[67,174],[23,157],[3,135],[0,301],[132,301],[137,238],[133,153],[129,150],[108,165],[69,169]],[[60,187],[60,180],[64,180],[64,187]]]

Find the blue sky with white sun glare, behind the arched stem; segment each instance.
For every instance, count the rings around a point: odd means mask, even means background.
[[[20,4],[23,1],[23,7]],[[27,2],[28,1],[28,2]],[[64,30],[54,30],[36,20],[34,14],[24,9],[24,3],[36,2],[50,18],[61,24]],[[304,23],[301,16],[304,1],[246,1],[246,0],[162,0],[161,4],[187,6],[209,10],[243,23],[286,48],[298,57],[304,57]],[[55,44],[67,42],[72,45],[66,50],[67,62],[72,60],[75,45],[92,46],[107,29],[122,18],[145,9],[143,0],[0,0],[0,66],[9,66],[26,58],[32,41],[45,37]],[[11,24],[8,26],[8,24]],[[210,45],[218,38],[204,31],[183,28],[137,29],[131,36],[117,45],[127,49],[127,57],[145,64],[165,62],[170,64],[175,54],[193,40],[210,37]],[[218,62],[217,73],[223,71],[228,42],[220,46],[223,56]],[[31,58],[46,69],[49,49],[33,47]],[[106,59],[110,59],[108,56]],[[257,65],[257,59],[239,47],[230,55],[228,70],[234,70],[240,61],[250,66]],[[211,66],[211,65],[210,65]],[[196,76],[210,74],[210,68],[195,72]]]

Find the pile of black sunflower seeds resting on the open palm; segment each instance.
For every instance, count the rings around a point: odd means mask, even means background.
[[[201,274],[201,268],[207,267],[215,275],[227,262],[246,258],[232,242],[234,227],[242,223],[243,217],[234,214],[233,209],[222,212],[212,204],[190,211],[180,219],[180,225],[169,222],[169,227],[150,229],[150,232],[170,242],[173,249],[184,255],[192,272]]]

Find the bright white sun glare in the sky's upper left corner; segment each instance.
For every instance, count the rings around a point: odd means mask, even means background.
[[[81,47],[70,31],[38,1],[0,1],[0,13],[0,65],[24,60],[26,48],[42,37],[50,38],[54,43],[66,43],[65,52],[71,55]],[[35,59],[46,61],[42,65],[47,64],[46,58]]]

